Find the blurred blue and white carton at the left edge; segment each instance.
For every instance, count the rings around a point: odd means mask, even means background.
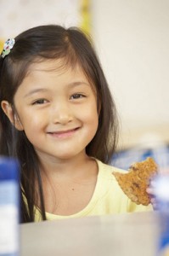
[[[19,186],[18,161],[0,157],[0,256],[19,255]]]

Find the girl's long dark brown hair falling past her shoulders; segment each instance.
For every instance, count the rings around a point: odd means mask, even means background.
[[[20,33],[15,38],[11,52],[4,58],[0,57],[0,102],[6,100],[14,106],[14,94],[29,72],[31,64],[48,59],[62,59],[68,67],[78,63],[94,85],[100,108],[99,127],[93,140],[87,145],[86,152],[87,155],[108,163],[115,152],[118,135],[115,102],[92,40],[76,27],[65,29],[56,25],[37,26]],[[16,157],[20,161],[22,222],[34,221],[37,200],[35,180],[38,183],[42,219],[46,219],[37,154],[25,132],[14,128],[2,108],[0,154]]]

